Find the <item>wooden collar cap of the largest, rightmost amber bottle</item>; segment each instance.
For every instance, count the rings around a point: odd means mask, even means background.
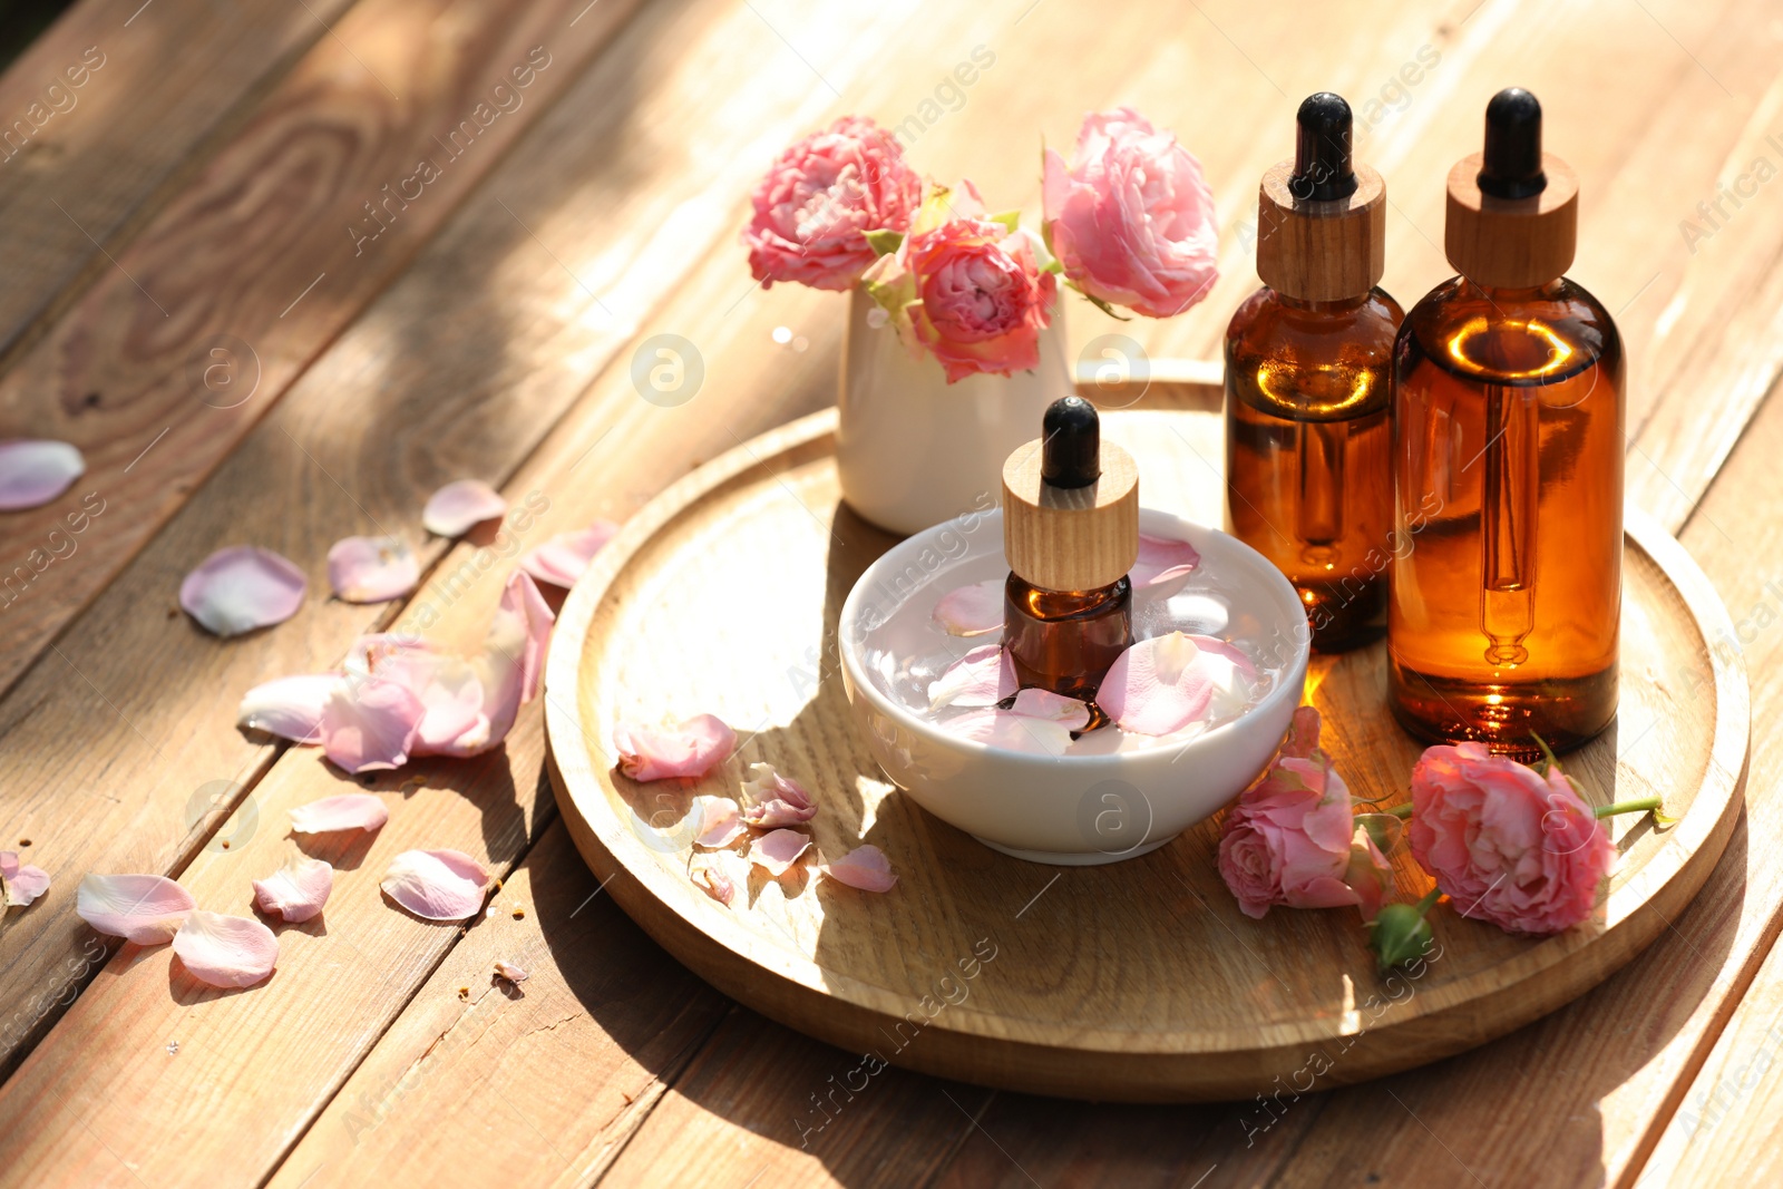
[[[1480,191],[1482,162],[1483,153],[1471,153],[1450,169],[1442,234],[1450,264],[1494,289],[1530,289],[1562,276],[1578,248],[1578,176],[1571,166],[1542,153],[1542,193],[1494,198]]]

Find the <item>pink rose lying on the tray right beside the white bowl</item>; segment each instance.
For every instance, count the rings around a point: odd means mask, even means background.
[[[1318,733],[1316,709],[1294,711],[1282,754],[1227,815],[1220,875],[1246,916],[1261,918],[1273,904],[1357,904],[1368,918],[1391,884],[1391,866],[1357,827],[1350,790],[1318,750]]]

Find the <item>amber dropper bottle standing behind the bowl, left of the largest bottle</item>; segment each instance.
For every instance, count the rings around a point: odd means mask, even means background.
[[[1257,275],[1225,342],[1227,528],[1300,592],[1312,645],[1378,638],[1393,529],[1393,339],[1378,285],[1387,189],[1350,155],[1350,105],[1296,116],[1294,160],[1262,175]]]

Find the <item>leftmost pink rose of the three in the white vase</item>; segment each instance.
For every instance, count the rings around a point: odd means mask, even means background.
[[[777,280],[849,289],[877,255],[867,232],[908,228],[922,180],[892,134],[843,116],[781,153],[752,198],[744,242],[763,289]]]

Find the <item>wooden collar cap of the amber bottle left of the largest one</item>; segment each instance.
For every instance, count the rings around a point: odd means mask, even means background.
[[[1262,175],[1257,193],[1257,276],[1300,301],[1360,298],[1387,271],[1387,184],[1355,166],[1355,193],[1298,201],[1294,162]]]

